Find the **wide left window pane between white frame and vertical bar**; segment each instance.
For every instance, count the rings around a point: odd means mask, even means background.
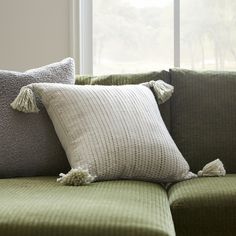
[[[172,0],[93,1],[95,74],[169,68],[172,42]]]

